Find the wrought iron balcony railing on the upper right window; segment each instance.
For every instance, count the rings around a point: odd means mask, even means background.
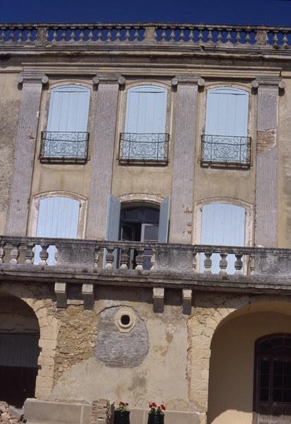
[[[206,165],[251,165],[251,137],[202,135],[201,162]]]

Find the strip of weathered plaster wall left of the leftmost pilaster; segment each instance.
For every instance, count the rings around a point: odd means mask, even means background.
[[[13,172],[21,90],[18,73],[0,73],[0,234],[4,234]]]

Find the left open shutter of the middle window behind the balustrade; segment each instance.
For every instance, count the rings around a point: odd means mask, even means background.
[[[106,240],[117,241],[119,240],[119,225],[120,225],[120,200],[117,197],[109,194],[109,202],[107,209],[107,225],[106,225]],[[106,253],[104,249],[104,266],[106,264]],[[114,261],[113,268],[116,268],[118,252],[116,249],[113,252]]]

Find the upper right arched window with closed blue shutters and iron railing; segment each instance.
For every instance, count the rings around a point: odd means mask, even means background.
[[[202,163],[249,165],[249,93],[240,88],[211,88],[206,98]]]

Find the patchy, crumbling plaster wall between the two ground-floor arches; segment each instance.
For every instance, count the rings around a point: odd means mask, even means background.
[[[100,287],[97,295],[99,301],[95,302],[94,311],[84,312],[82,305],[76,305],[69,306],[61,313],[62,317],[60,315],[62,324],[58,346],[66,348],[61,355],[56,356],[58,371],[55,377],[58,379],[50,399],[126,399],[130,406],[142,408],[147,408],[148,402],[156,399],[171,405],[173,410],[189,410],[186,378],[187,317],[182,316],[180,305],[167,305],[163,314],[154,314],[151,290],[132,289],[126,293],[111,288],[111,299],[116,300],[103,300],[108,295],[106,288]],[[144,302],[139,300],[141,298]],[[98,331],[100,325],[103,328],[101,319],[108,320],[111,317],[110,326],[113,326],[114,314],[111,315],[110,310],[121,306],[132,309],[141,325],[147,329],[148,353],[144,354],[143,351],[144,359],[140,358],[142,362],[134,367],[123,363],[122,355],[123,352],[127,355],[127,351],[121,335],[115,344],[115,350],[120,352],[120,366],[112,366],[112,363],[106,366],[94,353],[98,335],[94,331]],[[112,337],[116,340],[115,330],[111,334],[110,331],[107,333],[109,343]],[[124,333],[125,341],[128,337],[130,333]]]

